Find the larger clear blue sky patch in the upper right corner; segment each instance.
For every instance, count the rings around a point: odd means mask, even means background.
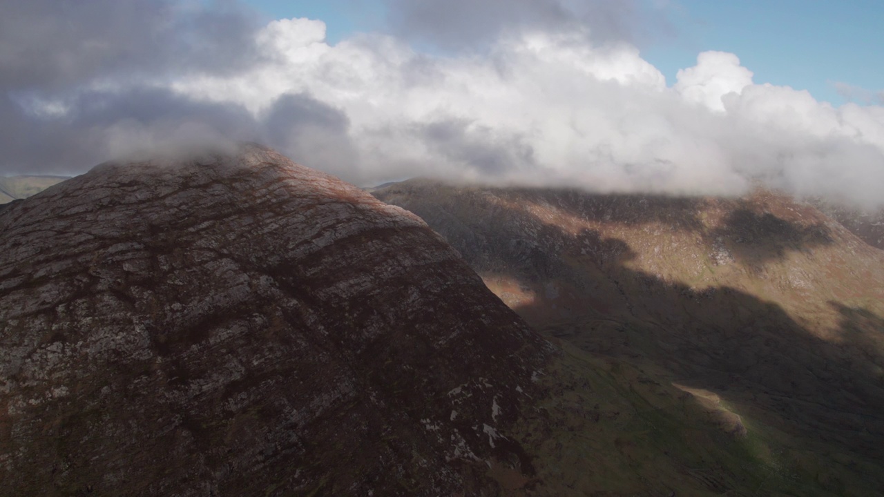
[[[704,50],[737,54],[756,79],[806,89],[834,104],[844,88],[884,88],[884,4],[877,0],[682,0],[670,16],[671,42],[644,47],[644,56],[674,76]],[[850,96],[865,101],[862,95]],[[880,101],[879,101],[880,103]]]

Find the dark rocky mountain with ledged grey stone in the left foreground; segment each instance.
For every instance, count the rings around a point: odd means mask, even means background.
[[[493,494],[550,346],[413,214],[286,157],[0,211],[0,494]]]

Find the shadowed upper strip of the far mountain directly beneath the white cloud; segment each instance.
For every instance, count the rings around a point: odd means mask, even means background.
[[[408,180],[374,192],[386,203],[400,205],[446,236],[476,271],[495,271],[507,249],[495,247],[499,236],[522,248],[539,246],[543,237],[560,239],[583,232],[583,221],[595,226],[626,226],[655,233],[696,234],[727,256],[754,270],[780,261],[789,252],[808,252],[834,243],[833,233],[813,208],[768,191],[743,199],[710,199],[644,194],[591,194],[567,189],[455,187],[431,180]],[[557,223],[565,223],[568,230]],[[508,226],[534,226],[521,236]],[[514,236],[515,235],[515,236]],[[587,236],[587,235],[584,235]],[[592,235],[588,235],[592,236]],[[534,240],[532,240],[534,239]],[[568,241],[565,241],[567,244]],[[510,250],[512,251],[512,250]],[[522,255],[523,256],[523,255]],[[506,264],[503,265],[506,268]]]

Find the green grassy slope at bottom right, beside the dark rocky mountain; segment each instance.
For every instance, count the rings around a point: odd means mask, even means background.
[[[877,495],[878,467],[796,449],[704,389],[561,341],[540,378],[549,395],[509,434],[531,447],[536,474],[489,470],[508,495]]]

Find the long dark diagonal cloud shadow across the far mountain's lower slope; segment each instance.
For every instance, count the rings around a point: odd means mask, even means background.
[[[634,256],[623,241],[593,232],[577,238],[616,248],[618,256],[603,263],[606,275],[593,275],[594,293],[613,298],[583,310],[574,309],[579,301],[550,309],[557,299],[515,306],[530,324],[583,350],[651,365],[720,394],[738,414],[819,455],[853,453],[884,463],[884,318],[833,302],[842,314],[841,340],[823,340],[776,303],[732,287],[698,291],[667,282],[622,265]],[[519,280],[543,292],[537,280]],[[552,325],[551,317],[558,317]],[[844,483],[832,483],[832,490]]]

